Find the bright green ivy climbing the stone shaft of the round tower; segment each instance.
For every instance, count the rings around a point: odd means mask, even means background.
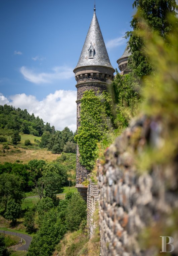
[[[81,126],[75,139],[79,145],[80,163],[88,170],[92,170],[98,156],[97,143],[105,140],[111,128],[112,115],[109,94],[95,95],[90,90],[86,91],[81,99]]]

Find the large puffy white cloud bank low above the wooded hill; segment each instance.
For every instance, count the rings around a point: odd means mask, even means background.
[[[63,130],[68,126],[76,130],[76,91],[58,90],[50,93],[43,100],[39,101],[33,95],[25,93],[15,94],[9,100],[0,94],[0,105],[9,104],[16,108],[27,109],[35,117],[39,116],[44,122],[54,125],[57,130]]]

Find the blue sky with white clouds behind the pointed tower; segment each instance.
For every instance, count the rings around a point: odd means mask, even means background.
[[[96,15],[114,68],[126,47],[131,0],[96,0]],[[93,16],[94,1],[0,1],[0,104],[40,116],[57,129],[76,127],[73,69]]]

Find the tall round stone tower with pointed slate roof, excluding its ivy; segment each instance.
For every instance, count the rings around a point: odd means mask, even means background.
[[[93,18],[78,64],[74,69],[77,81],[77,129],[80,126],[80,104],[84,92],[91,89],[95,92],[106,90],[108,80],[113,79],[114,72],[115,70],[109,61],[94,6]],[[86,200],[87,187],[83,186],[82,182],[88,177],[89,172],[79,163],[79,156],[79,148],[77,147],[76,187],[83,199]]]

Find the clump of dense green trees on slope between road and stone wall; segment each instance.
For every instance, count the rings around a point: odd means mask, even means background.
[[[50,198],[42,199],[37,204],[37,212],[41,216],[40,229],[33,237],[27,255],[49,256],[64,234],[79,229],[82,220],[86,219],[86,202],[79,193],[67,193],[57,207]]]

